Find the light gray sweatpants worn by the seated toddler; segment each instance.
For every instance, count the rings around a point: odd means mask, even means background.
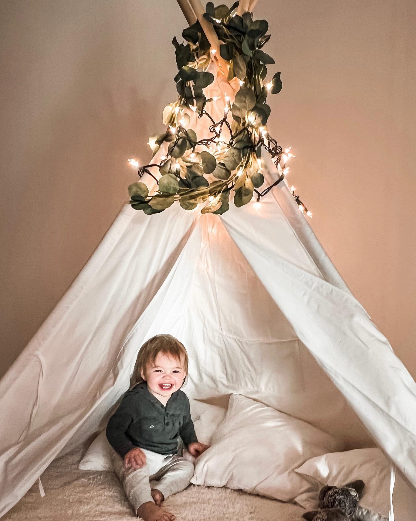
[[[127,470],[121,456],[115,451],[112,453],[115,474],[119,477],[136,515],[140,505],[153,501],[150,490],[160,490],[167,499],[189,485],[194,470],[193,463],[176,454],[164,456],[146,449],[141,450],[146,454],[146,465],[138,470]]]

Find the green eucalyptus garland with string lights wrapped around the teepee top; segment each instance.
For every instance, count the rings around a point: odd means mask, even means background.
[[[240,84],[232,105],[229,97],[224,96],[224,117],[220,121],[214,121],[205,110],[207,104],[217,102],[216,97],[207,99],[203,93],[203,89],[214,81],[214,76],[206,69],[214,59],[215,51],[200,22],[183,31],[186,44],[179,44],[176,37],[173,39],[178,66],[175,77],[178,100],[163,111],[165,132],[149,139],[152,157],[165,142],[168,143],[167,155],[161,156],[160,163],[139,168],[139,177],[148,173],[158,183],[158,191],[149,195],[145,183],[131,184],[128,192],[133,208],[151,215],[163,212],[179,201],[186,210],[206,203],[201,213],[223,214],[229,209],[232,191],[233,202],[240,207],[249,203],[254,193],[258,202],[283,180],[288,156],[266,128],[270,115],[267,94],[276,94],[282,89],[280,72],[276,72],[271,82],[263,84],[266,66],[275,63],[262,50],[270,39],[268,23],[266,20],[253,21],[251,13],[239,16],[237,8],[238,2],[231,8],[226,5],[214,7],[212,2],[205,7],[204,18],[212,24],[222,42],[220,56],[229,64],[227,80],[236,78]],[[189,128],[191,111],[199,118],[210,120],[209,137],[198,139],[196,132]],[[274,183],[259,191],[257,189],[264,185],[263,148],[270,154],[278,172],[280,166],[280,172]],[[153,176],[151,167],[159,168],[159,179]],[[292,193],[301,209],[307,212],[293,187]]]

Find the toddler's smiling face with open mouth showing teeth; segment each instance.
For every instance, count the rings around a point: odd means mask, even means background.
[[[180,389],[185,378],[184,360],[159,353],[154,363],[148,363],[141,377],[146,380],[149,391],[162,403]]]

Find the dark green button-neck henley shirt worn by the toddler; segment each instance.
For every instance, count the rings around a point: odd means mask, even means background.
[[[140,447],[159,454],[176,454],[178,436],[186,445],[197,442],[188,396],[172,393],[166,407],[139,383],[127,391],[107,424],[107,439],[121,457]]]

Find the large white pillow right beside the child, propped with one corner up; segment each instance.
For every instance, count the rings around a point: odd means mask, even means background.
[[[232,394],[227,415],[212,446],[196,461],[195,485],[242,489],[281,501],[313,490],[294,469],[308,458],[340,450],[327,433],[239,394]]]

